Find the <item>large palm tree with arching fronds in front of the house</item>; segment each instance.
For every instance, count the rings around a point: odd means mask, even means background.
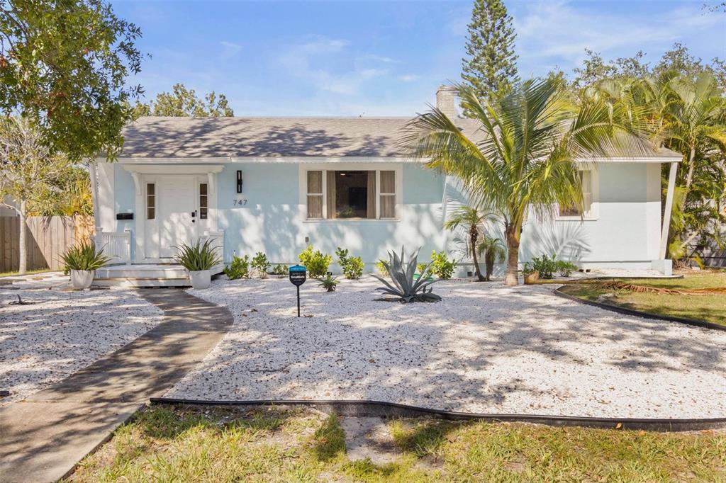
[[[401,145],[429,168],[457,176],[469,198],[501,216],[507,241],[507,285],[518,284],[522,224],[531,211],[548,218],[552,205],[582,207],[576,161],[632,152],[639,136],[614,122],[620,112],[604,102],[574,107],[556,79],[527,80],[489,104],[468,86],[457,91],[462,107],[481,126],[468,137],[444,112],[433,108],[407,125]]]

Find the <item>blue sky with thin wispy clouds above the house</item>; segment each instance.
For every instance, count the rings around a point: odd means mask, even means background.
[[[523,77],[569,73],[676,41],[726,58],[726,13],[694,1],[506,1]],[[710,3],[716,3],[710,0]],[[459,80],[471,1],[113,1],[150,54],[147,98],[176,82],[227,94],[235,115],[412,115]]]

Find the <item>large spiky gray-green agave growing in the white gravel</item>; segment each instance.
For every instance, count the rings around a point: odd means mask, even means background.
[[[391,282],[372,273],[371,275],[382,281],[385,286],[378,287],[378,290],[386,294],[395,295],[401,299],[401,302],[438,302],[441,300],[439,295],[433,294],[430,287],[431,284],[439,281],[438,279],[427,279],[428,272],[431,270],[432,263],[423,268],[417,279],[414,278],[416,273],[416,259],[418,257],[416,250],[411,254],[409,260],[404,259],[404,247],[401,247],[401,256],[396,252],[388,252],[388,262],[381,260],[383,267],[386,268]]]

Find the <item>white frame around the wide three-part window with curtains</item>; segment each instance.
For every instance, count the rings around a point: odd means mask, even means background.
[[[403,164],[400,162],[301,162],[299,165],[299,202],[304,223],[390,223],[401,220],[403,199]],[[322,215],[323,218],[308,218],[308,171],[322,171]],[[375,171],[375,218],[327,218],[327,173],[326,171]],[[380,172],[394,171],[396,180],[396,218],[380,218]]]

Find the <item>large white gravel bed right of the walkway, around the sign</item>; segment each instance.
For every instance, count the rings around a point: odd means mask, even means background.
[[[167,397],[379,400],[475,413],[726,416],[726,333],[570,302],[552,286],[447,281],[434,304],[378,281],[214,281],[234,326]]]

